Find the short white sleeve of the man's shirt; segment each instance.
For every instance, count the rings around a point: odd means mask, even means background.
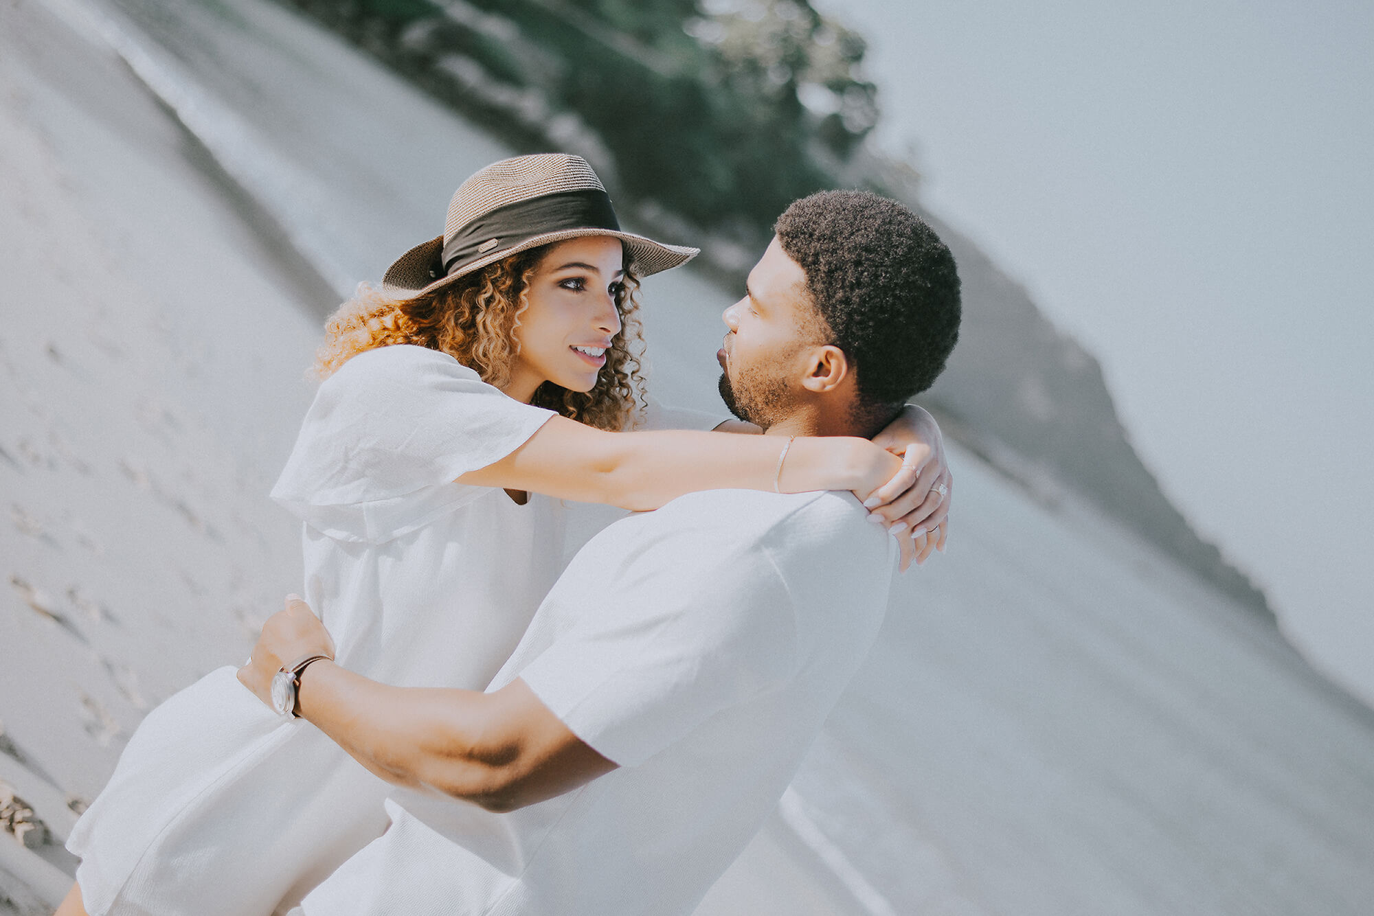
[[[710,551],[699,538],[683,531],[638,553],[638,573],[588,595],[596,607],[519,670],[574,735],[621,766],[796,672],[793,602],[767,551],[684,563]]]

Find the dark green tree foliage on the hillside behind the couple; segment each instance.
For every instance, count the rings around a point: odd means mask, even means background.
[[[411,76],[475,65],[485,81],[448,93],[460,107],[485,95],[550,125],[573,115],[613,158],[617,192],[742,242],[837,184],[877,121],[863,40],[807,0],[289,1]]]

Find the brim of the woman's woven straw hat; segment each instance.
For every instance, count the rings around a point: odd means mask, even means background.
[[[588,227],[581,229],[559,229],[556,232],[544,232],[541,235],[530,236],[517,244],[496,249],[470,264],[464,264],[462,268],[458,268],[447,276],[434,279],[434,272],[440,269],[440,258],[444,251],[444,236],[440,236],[416,244],[414,249],[398,257],[392,266],[386,269],[386,275],[382,277],[382,287],[393,295],[423,295],[449,286],[469,273],[481,271],[488,264],[496,264],[502,258],[508,258],[513,254],[519,254],[521,251],[528,251],[541,244],[566,242],[567,239],[581,239],[589,235],[607,235],[613,239],[620,239],[625,244],[625,255],[631,269],[640,277],[682,266],[701,254],[701,249],[691,249],[682,244],[664,244],[662,242],[654,242],[653,239],[646,239],[644,236],[635,235],[633,232]]]

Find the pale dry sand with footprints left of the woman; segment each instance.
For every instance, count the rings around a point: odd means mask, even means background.
[[[264,493],[317,320],[195,152],[107,49],[0,4],[0,780],[59,840],[143,714],[298,588]]]

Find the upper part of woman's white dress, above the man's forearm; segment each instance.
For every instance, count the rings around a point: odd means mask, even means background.
[[[360,353],[324,380],[272,499],[305,522],[304,597],[342,665],[460,687],[508,658],[563,566],[562,507],[455,481],[550,416],[419,346]]]

